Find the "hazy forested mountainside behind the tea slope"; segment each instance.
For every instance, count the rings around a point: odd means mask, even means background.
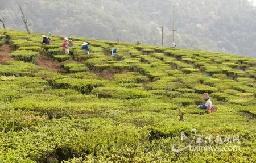
[[[18,5],[28,9],[32,32],[161,45],[172,44],[172,5],[180,48],[256,57],[256,10],[247,0],[1,0],[7,28],[25,30]]]

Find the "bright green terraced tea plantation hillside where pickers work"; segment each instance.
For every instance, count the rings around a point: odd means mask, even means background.
[[[255,161],[255,58],[78,37],[65,56],[63,37],[40,45],[42,34],[0,30],[6,35],[0,162]],[[217,113],[197,108],[205,92]],[[174,152],[192,129],[191,145],[220,149]]]

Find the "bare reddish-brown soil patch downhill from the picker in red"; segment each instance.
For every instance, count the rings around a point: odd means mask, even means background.
[[[66,71],[62,68],[60,68],[60,63],[57,61],[54,61],[47,56],[39,55],[37,60],[35,61],[35,64],[42,66],[46,70],[50,72],[56,72],[56,73],[65,73]]]

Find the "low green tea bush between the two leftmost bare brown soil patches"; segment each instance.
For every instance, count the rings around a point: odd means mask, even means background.
[[[11,57],[14,57],[15,60],[24,61],[24,62],[34,62],[38,57],[38,52],[33,51],[14,51],[10,54]]]

